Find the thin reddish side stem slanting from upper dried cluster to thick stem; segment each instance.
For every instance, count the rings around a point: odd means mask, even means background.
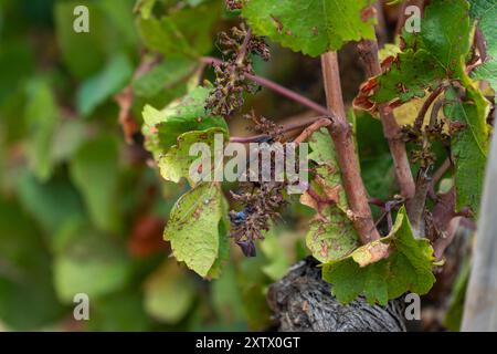
[[[212,56],[204,56],[201,59],[201,61],[203,63],[207,63],[212,66],[220,65],[222,63],[222,60],[212,58]],[[292,90],[288,90],[288,88],[282,86],[271,80],[267,80],[267,79],[264,79],[264,77],[261,77],[257,75],[252,75],[252,74],[246,74],[245,76],[248,80],[252,80],[253,82],[255,82],[256,84],[260,84],[263,87],[274,91],[275,93],[277,93],[286,98],[289,98],[292,101],[295,101],[319,114],[330,116],[330,117],[334,116],[332,112],[329,112],[326,107],[317,104],[316,102],[314,102],[307,97],[304,97],[303,95],[300,95]]]

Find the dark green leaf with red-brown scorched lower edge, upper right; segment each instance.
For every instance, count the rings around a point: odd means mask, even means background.
[[[355,105],[399,105],[423,97],[446,80],[464,80],[472,27],[466,0],[435,0],[426,7],[420,33],[403,33],[405,49],[383,61],[383,74],[362,85]]]

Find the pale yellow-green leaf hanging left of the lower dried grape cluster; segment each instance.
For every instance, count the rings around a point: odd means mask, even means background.
[[[163,232],[176,259],[204,278],[213,275],[220,252],[225,252],[225,243],[220,247],[223,198],[219,184],[197,186],[177,201]]]

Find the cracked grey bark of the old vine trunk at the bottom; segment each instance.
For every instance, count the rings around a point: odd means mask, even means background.
[[[267,301],[278,331],[405,332],[401,301],[390,301],[382,308],[359,298],[342,305],[331,295],[330,284],[321,280],[318,264],[308,257],[271,285]]]

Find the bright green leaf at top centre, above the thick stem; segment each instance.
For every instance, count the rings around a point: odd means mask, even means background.
[[[250,0],[242,15],[258,35],[317,56],[350,41],[374,39],[371,0]]]

